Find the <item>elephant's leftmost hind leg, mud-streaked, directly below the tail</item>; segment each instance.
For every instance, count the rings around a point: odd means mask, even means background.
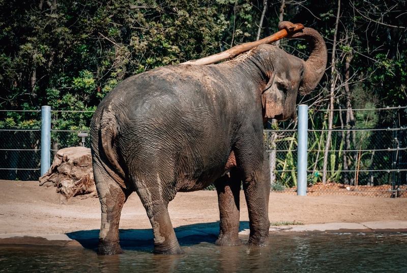
[[[119,244],[120,215],[132,192],[122,188],[98,162],[94,161],[93,170],[102,210],[98,254],[120,254],[123,252]]]

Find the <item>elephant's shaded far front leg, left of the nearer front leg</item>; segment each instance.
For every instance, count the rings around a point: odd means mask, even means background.
[[[218,193],[220,230],[216,245],[240,245],[240,179],[236,171],[230,172],[230,177],[222,176],[215,181]]]

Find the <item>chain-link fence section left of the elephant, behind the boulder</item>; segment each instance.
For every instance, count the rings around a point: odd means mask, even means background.
[[[0,111],[0,179],[38,180],[41,166],[41,112]],[[51,112],[51,156],[62,148],[82,146],[93,111]],[[35,128],[35,129],[34,129]],[[90,147],[90,137],[85,138]]]

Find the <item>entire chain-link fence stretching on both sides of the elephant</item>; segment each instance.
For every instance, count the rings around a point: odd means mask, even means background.
[[[51,112],[51,162],[58,150],[82,146],[78,133],[89,134],[92,114],[92,111]],[[311,117],[310,121],[310,127],[315,127]],[[329,149],[326,150],[329,132]],[[298,132],[295,126],[289,130],[264,130],[264,136],[272,171],[272,190],[296,194]],[[37,180],[40,176],[40,130],[3,127],[0,137],[3,140],[0,144],[0,179]],[[309,129],[308,195],[406,197],[406,144],[407,128],[401,126]],[[85,138],[84,146],[90,147],[90,136]],[[326,183],[323,183],[324,173]]]

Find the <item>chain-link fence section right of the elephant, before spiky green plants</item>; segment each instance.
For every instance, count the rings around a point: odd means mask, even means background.
[[[389,116],[390,110],[356,110],[364,122],[353,128],[308,130],[307,195],[407,197],[407,127],[372,128],[366,115]],[[272,190],[296,194],[297,130],[265,130],[265,139]]]

